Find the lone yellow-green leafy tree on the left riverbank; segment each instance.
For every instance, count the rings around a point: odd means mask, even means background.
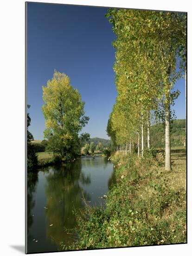
[[[77,155],[81,147],[79,132],[89,121],[81,95],[70,85],[70,78],[57,71],[42,89],[48,150],[62,158]]]

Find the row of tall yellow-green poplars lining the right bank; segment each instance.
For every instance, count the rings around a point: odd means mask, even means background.
[[[109,9],[116,39],[116,102],[107,133],[113,147],[138,156],[151,147],[151,120],[165,123],[165,169],[171,170],[171,105],[179,96],[175,82],[186,73],[186,13]]]

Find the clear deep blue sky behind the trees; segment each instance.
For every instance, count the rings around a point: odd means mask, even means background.
[[[107,8],[28,3],[27,8],[27,103],[32,119],[29,130],[34,139],[43,139],[45,120],[42,86],[52,78],[54,69],[70,77],[85,101],[90,117],[82,132],[91,137],[108,138],[109,114],[115,103],[113,64],[115,39],[105,17]],[[185,80],[176,88],[181,92],[175,102],[178,119],[185,118]]]

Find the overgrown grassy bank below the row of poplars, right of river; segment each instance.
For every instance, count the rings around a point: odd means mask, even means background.
[[[106,209],[75,212],[76,243],[63,249],[186,243],[186,153],[173,151],[173,170],[165,172],[163,156],[147,152],[112,156],[117,184]]]

